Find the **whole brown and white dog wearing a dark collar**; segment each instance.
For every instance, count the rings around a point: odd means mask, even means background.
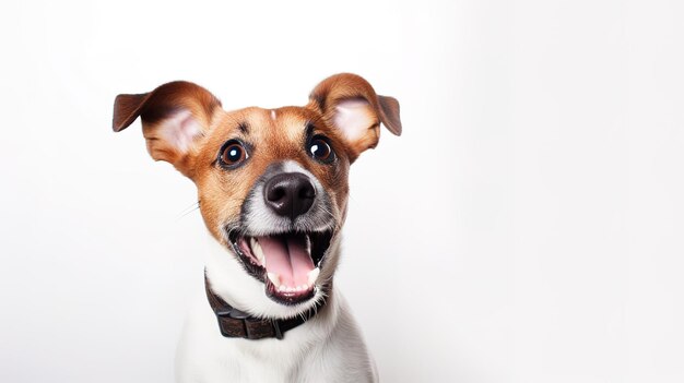
[[[194,182],[215,241],[176,355],[178,382],[376,382],[333,288],[349,169],[401,134],[399,101],[363,77],[320,82],[304,107],[225,111],[205,88],[172,82],[114,104],[119,132],[140,117],[153,159]]]

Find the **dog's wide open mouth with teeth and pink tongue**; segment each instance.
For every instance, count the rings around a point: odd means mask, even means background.
[[[266,285],[269,298],[283,304],[311,299],[331,231],[285,232],[270,236],[228,235],[246,271]]]

